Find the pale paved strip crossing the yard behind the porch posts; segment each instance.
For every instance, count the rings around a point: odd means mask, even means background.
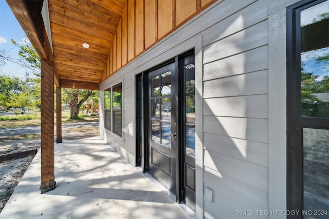
[[[98,122],[79,122],[79,123],[64,123],[62,129],[66,128],[82,128],[86,126],[98,126]],[[55,125],[56,131],[56,125]],[[28,127],[15,127],[0,129],[0,136],[5,135],[19,135],[28,133],[40,133],[40,126],[28,126]]]

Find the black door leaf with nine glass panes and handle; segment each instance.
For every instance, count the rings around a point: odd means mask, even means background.
[[[148,73],[148,172],[176,190],[175,62]]]

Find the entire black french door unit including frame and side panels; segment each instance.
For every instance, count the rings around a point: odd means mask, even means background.
[[[194,51],[136,76],[136,166],[195,209]]]

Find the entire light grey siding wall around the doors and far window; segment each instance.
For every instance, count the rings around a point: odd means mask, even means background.
[[[134,165],[135,75],[196,48],[197,218],[239,218],[236,210],[271,208],[268,10],[276,2],[283,1],[219,0],[100,86],[123,82],[124,138],[104,133]],[[206,187],[214,191],[213,202]]]

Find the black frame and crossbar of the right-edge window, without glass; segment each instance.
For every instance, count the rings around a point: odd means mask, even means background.
[[[287,210],[303,210],[302,128],[327,129],[328,118],[301,117],[300,12],[326,0],[304,0],[286,8],[287,36]],[[301,215],[287,215],[300,218]]]

